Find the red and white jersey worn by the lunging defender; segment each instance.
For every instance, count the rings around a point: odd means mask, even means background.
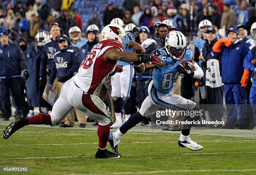
[[[117,60],[106,61],[103,59],[104,53],[114,48],[123,51],[118,40],[103,40],[96,44],[90,54],[82,61],[73,80],[84,92],[95,94],[109,75],[115,71]]]

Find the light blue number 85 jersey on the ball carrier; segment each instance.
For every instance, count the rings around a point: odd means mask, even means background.
[[[176,62],[170,55],[167,55],[164,47],[154,50],[151,55],[158,56],[164,65],[164,67],[157,66],[157,68],[154,68],[154,87],[160,93],[172,92],[179,77],[179,64],[192,59],[192,50],[187,47],[182,60],[177,60]]]

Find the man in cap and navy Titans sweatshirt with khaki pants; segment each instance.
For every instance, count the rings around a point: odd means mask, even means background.
[[[60,96],[61,87],[64,85],[64,82],[69,80],[78,71],[80,65],[79,54],[71,47],[67,35],[59,37],[58,45],[60,50],[54,54],[54,64],[49,77],[49,85],[53,85],[56,77],[58,80],[56,82],[56,90],[58,91],[56,99]],[[74,110],[69,112],[67,117],[64,118],[60,127],[74,127]]]

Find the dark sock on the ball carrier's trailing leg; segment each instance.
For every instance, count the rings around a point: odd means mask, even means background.
[[[119,128],[119,130],[122,134],[125,134],[128,130],[136,126],[139,122],[146,119],[147,117],[144,117],[140,114],[140,112],[137,112],[131,115],[131,117],[129,117],[129,119]]]

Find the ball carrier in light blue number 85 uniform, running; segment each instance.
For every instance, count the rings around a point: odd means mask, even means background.
[[[171,110],[198,110],[196,103],[172,93],[179,74],[193,78],[201,78],[203,71],[192,60],[192,51],[187,47],[186,37],[179,31],[172,31],[166,35],[165,47],[154,50],[152,55],[161,58],[164,67],[152,64],[134,65],[135,70],[143,72],[154,68],[153,80],[148,86],[148,97],[143,101],[139,112],[133,114],[115,133],[110,133],[109,143],[114,152],[118,153],[120,138],[139,122],[154,114],[159,107]],[[184,66],[181,64],[186,62]],[[192,69],[192,65],[195,71]],[[191,121],[192,117],[185,116],[184,121]],[[184,124],[178,140],[180,147],[189,150],[202,150],[202,146],[189,138],[192,125]]]

